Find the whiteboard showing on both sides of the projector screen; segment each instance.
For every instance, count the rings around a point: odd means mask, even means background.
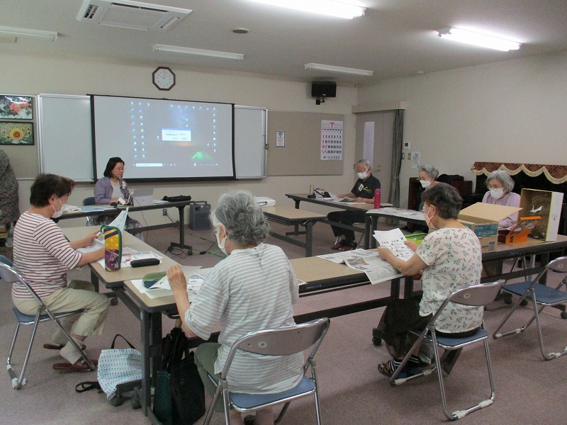
[[[235,106],[237,179],[266,176],[267,110]],[[38,95],[40,172],[93,181],[91,98],[67,94]]]

